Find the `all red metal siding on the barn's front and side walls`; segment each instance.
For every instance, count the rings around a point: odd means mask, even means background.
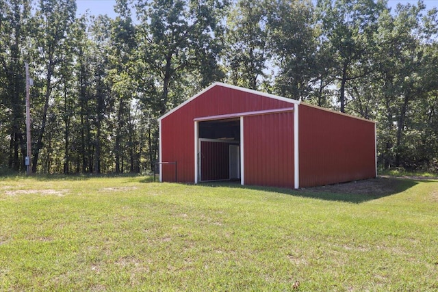
[[[177,161],[178,181],[193,182],[194,118],[291,106],[216,85],[162,118],[162,161]],[[303,104],[298,118],[300,187],[375,176],[374,123]],[[246,185],[294,187],[294,112],[244,117],[244,164]],[[162,175],[175,181],[174,165]]]

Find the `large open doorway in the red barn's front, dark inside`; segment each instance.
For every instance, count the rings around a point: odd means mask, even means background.
[[[240,181],[240,169],[240,118],[199,122],[199,181]]]

